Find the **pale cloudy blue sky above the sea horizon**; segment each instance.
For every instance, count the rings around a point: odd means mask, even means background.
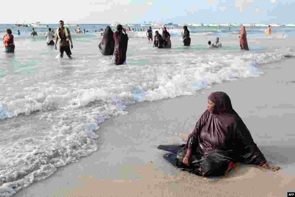
[[[293,2],[292,2],[293,1]],[[294,23],[295,1],[283,0],[40,0],[13,1],[0,23]],[[289,14],[288,14],[289,13]]]

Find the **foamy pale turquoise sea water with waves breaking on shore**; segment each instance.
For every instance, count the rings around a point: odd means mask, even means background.
[[[238,28],[191,29],[190,47],[182,46],[181,29],[174,28],[171,49],[152,48],[145,32],[128,32],[127,61],[116,66],[98,50],[101,36],[95,30],[105,26],[81,25],[89,32],[73,35],[71,60],[56,58],[58,51],[42,36],[46,28],[36,28],[40,35],[33,38],[30,28],[19,28],[19,37],[13,29],[15,53],[4,53],[4,47],[0,53],[0,196],[12,196],[96,151],[100,124],[127,114],[127,105],[259,77],[258,67],[295,55],[286,41],[295,37],[295,28],[273,28],[271,38],[262,29],[247,29],[250,51],[240,51]],[[207,41],[216,36],[223,48],[208,49]]]

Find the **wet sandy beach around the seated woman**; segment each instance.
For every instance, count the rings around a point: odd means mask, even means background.
[[[101,124],[97,152],[15,196],[286,196],[295,191],[294,63],[259,65],[263,76],[214,84],[195,96],[129,105],[128,115]],[[282,170],[240,165],[227,177],[203,178],[163,159],[156,147],[183,143],[214,91],[230,96],[268,163]]]

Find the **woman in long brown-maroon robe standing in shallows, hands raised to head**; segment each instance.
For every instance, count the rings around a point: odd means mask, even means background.
[[[117,31],[114,33],[114,40],[115,40],[115,64],[120,65],[123,64],[126,60],[126,53],[127,53],[127,45],[128,45],[128,35],[124,30],[123,34],[123,27],[122,25],[117,26]]]

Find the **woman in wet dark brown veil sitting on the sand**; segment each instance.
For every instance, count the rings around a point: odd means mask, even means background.
[[[207,110],[186,144],[160,145],[158,148],[173,152],[164,155],[169,162],[200,176],[226,175],[237,162],[268,167],[250,131],[224,92],[209,95]]]

